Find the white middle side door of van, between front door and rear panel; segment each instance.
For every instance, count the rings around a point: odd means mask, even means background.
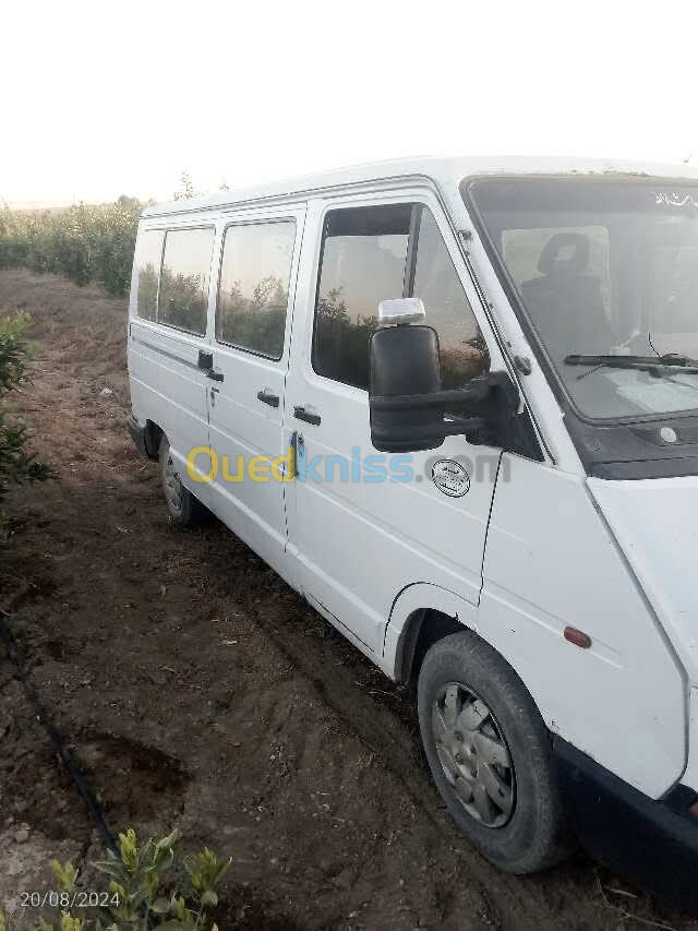
[[[287,207],[226,226],[210,346],[215,510],[285,577],[287,466],[279,457],[303,217],[302,207]]]

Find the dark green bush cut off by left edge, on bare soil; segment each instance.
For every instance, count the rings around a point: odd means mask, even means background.
[[[27,365],[32,350],[26,338],[29,322],[22,313],[0,317],[0,402],[31,380]],[[0,502],[11,485],[43,480],[50,474],[27,452],[26,441],[26,425],[0,409]],[[3,524],[0,506],[0,526]]]

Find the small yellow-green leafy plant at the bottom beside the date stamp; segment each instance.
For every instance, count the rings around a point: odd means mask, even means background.
[[[119,854],[109,850],[107,859],[94,866],[108,876],[108,894],[99,896],[100,906],[93,918],[76,918],[61,911],[60,924],[40,921],[38,931],[146,931],[149,928],[170,931],[206,929],[207,911],[218,904],[217,886],[230,867],[205,847],[196,857],[184,858],[188,875],[184,890],[168,888],[164,875],[174,866],[174,847],[180,832],[173,831],[159,840],[139,844],[135,832],[119,835]],[[72,863],[51,864],[53,875],[68,900],[77,888],[77,870]],[[0,931],[5,931],[0,923]],[[8,929],[9,931],[9,929]],[[213,924],[210,931],[218,931]]]

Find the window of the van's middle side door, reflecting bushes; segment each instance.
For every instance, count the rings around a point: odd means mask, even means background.
[[[219,343],[281,358],[294,240],[294,220],[226,229],[216,307]]]

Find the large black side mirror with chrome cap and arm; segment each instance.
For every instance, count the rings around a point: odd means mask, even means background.
[[[398,325],[376,330],[369,344],[373,445],[386,453],[412,453],[465,434],[470,442],[504,446],[506,425],[518,407],[516,386],[506,372],[492,372],[465,387],[442,391],[436,331],[408,325],[423,319],[422,302],[414,298],[382,301],[378,308],[381,323]],[[445,418],[446,406],[474,416]]]

